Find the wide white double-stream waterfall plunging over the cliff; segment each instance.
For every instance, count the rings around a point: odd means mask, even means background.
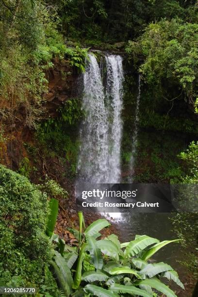
[[[120,181],[120,143],[122,136],[122,58],[105,56],[106,83],[102,84],[96,57],[89,54],[83,74],[80,131],[79,178],[92,183]]]

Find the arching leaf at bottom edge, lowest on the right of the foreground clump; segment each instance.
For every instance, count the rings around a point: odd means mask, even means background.
[[[168,286],[166,286],[164,283],[162,283],[157,279],[136,281],[135,285],[147,285],[147,286],[150,286],[151,288],[158,290],[159,292],[162,292],[167,297],[177,297],[175,293]]]

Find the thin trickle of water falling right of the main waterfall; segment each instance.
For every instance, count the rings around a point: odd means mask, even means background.
[[[133,180],[132,176],[134,174],[134,161],[135,161],[135,152],[136,152],[136,147],[137,147],[140,97],[141,97],[141,76],[139,74],[138,75],[137,101],[136,101],[136,109],[135,109],[134,131],[133,131],[133,135],[132,135],[132,156],[131,156],[131,160],[130,160],[130,168],[131,168],[130,182],[132,182],[132,180]]]

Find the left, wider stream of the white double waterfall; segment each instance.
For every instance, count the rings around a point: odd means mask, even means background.
[[[83,74],[85,118],[80,131],[78,170],[84,181],[102,183],[108,178],[108,123],[99,65],[94,55],[89,54],[89,60]]]

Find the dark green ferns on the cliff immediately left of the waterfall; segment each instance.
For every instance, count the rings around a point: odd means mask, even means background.
[[[58,116],[49,117],[37,125],[36,137],[46,154],[62,157],[68,166],[68,177],[73,178],[77,171],[79,141],[77,139],[79,122],[82,119],[79,98],[69,99],[64,107],[58,110]]]

